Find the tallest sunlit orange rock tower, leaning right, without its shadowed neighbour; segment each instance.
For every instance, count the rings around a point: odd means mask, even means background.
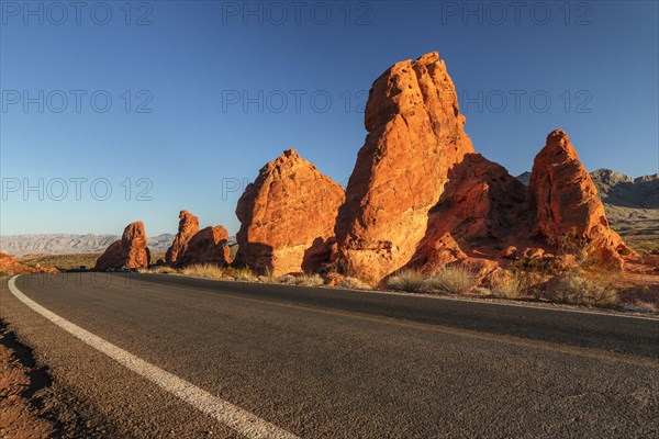
[[[437,53],[398,63],[378,78],[365,117],[368,135],[336,237],[350,272],[377,281],[414,256],[449,170],[473,148]]]

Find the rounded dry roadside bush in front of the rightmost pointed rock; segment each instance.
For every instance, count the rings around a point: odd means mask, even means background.
[[[617,306],[619,303],[617,292],[610,285],[577,274],[557,278],[548,291],[548,296],[555,302],[603,307]]]

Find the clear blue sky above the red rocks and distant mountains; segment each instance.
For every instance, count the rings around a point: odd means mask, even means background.
[[[656,1],[300,3],[2,1],[1,233],[175,233],[181,209],[235,233],[233,188],[284,148],[345,184],[366,91],[432,50],[476,149],[511,173],[559,127],[590,170],[658,171]],[[23,193],[38,179],[43,201]]]

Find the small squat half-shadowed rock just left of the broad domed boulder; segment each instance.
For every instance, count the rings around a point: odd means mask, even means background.
[[[213,263],[226,267],[231,263],[228,233],[223,226],[205,227],[190,238],[185,254],[179,258],[180,266]]]

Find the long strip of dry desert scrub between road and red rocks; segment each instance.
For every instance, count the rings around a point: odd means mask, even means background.
[[[403,269],[390,275],[379,290],[491,300],[533,301],[573,306],[599,307],[637,313],[659,313],[659,300],[651,286],[616,275],[601,267],[565,257],[557,267],[530,258],[511,263],[509,269],[488,279],[460,266],[446,266],[435,273]],[[569,262],[566,262],[569,261]],[[288,273],[271,271],[257,275],[248,268],[219,267],[212,263],[175,269],[168,266],[139,270],[142,273],[192,275],[224,281],[259,282],[293,286],[330,286],[350,290],[373,290],[373,285],[337,271]]]

